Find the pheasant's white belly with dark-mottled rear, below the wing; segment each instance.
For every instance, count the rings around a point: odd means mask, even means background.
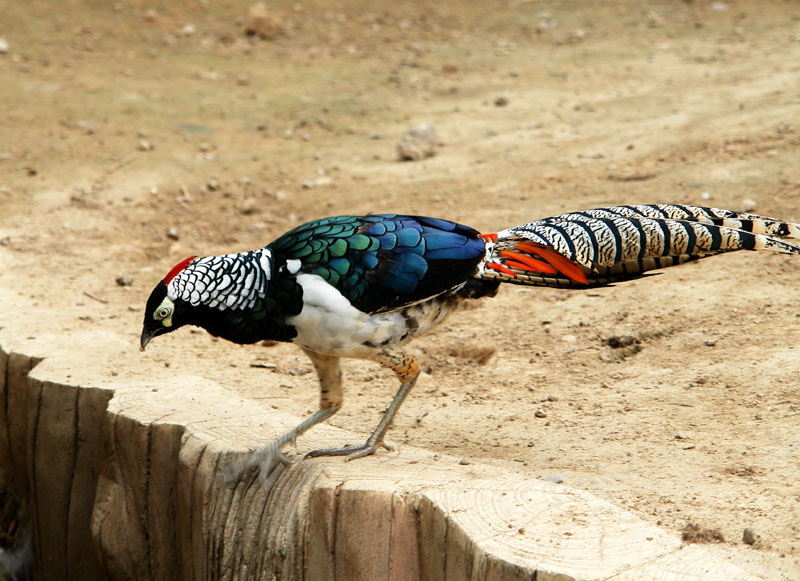
[[[315,274],[299,274],[303,310],[286,322],[297,329],[292,339],[306,349],[369,359],[376,350],[391,349],[429,331],[454,310],[452,298],[434,298],[398,311],[368,315]]]

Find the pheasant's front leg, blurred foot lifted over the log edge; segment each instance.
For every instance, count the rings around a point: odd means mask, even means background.
[[[279,464],[283,466],[289,464],[289,460],[281,453],[281,450],[286,444],[294,444],[297,438],[303,433],[320,422],[324,422],[341,409],[343,396],[342,372],[339,367],[339,358],[321,355],[306,349],[303,351],[305,351],[306,355],[311,359],[311,362],[314,364],[314,369],[317,371],[317,377],[319,377],[319,410],[300,422],[295,428],[283,434],[269,446],[252,454],[247,462],[247,466],[243,467],[240,473],[244,468],[259,466],[261,469],[261,478],[266,480]]]

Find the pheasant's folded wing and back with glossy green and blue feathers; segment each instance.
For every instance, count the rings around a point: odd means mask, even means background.
[[[467,226],[380,214],[303,224],[269,248],[317,274],[356,308],[392,310],[458,287],[476,272],[485,242]]]

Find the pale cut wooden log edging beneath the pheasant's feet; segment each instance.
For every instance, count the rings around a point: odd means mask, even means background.
[[[747,578],[586,492],[408,446],[262,481],[248,450],[295,418],[196,377],[98,389],[32,365],[0,355],[0,474],[40,578]]]

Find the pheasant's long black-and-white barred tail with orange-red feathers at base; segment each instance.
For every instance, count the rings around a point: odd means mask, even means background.
[[[573,212],[482,235],[478,278],[587,288],[736,250],[800,254],[800,224],[699,206],[647,204]]]

